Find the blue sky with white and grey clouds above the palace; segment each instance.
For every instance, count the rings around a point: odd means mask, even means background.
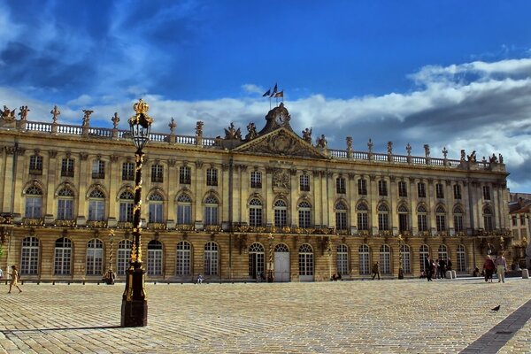
[[[531,192],[531,2],[0,2],[0,106],[120,127],[139,97],[154,130],[263,127],[278,82],[292,127],[335,149],[504,155]]]

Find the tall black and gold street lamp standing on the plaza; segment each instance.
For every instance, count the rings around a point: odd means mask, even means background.
[[[144,273],[142,268],[142,243],[140,205],[142,203],[142,149],[150,140],[150,129],[153,119],[147,112],[150,106],[138,100],[133,105],[136,114],[129,119],[131,138],[135,143],[135,207],[133,208],[133,242],[131,258],[127,269],[126,289],[122,296],[121,327],[145,327],[148,325],[148,300],[144,288]]]

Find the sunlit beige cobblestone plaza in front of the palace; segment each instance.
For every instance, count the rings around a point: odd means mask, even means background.
[[[148,327],[133,328],[119,327],[121,283],[27,283],[12,294],[2,285],[0,350],[529,353],[530,285],[519,278],[150,283]],[[496,304],[500,311],[490,312]]]

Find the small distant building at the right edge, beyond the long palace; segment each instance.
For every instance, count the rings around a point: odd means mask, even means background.
[[[530,212],[531,195],[525,193],[510,193],[509,213],[512,231],[512,263],[524,267],[526,262],[526,247],[529,242],[531,225]],[[511,260],[511,259],[510,259]]]

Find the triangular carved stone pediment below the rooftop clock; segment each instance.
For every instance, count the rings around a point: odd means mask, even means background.
[[[299,158],[327,158],[326,155],[285,128],[244,143],[235,148],[235,151]]]

